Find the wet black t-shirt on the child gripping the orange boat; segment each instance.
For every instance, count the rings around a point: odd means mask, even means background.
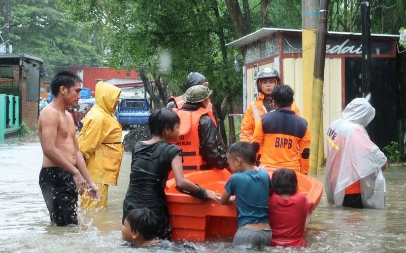
[[[167,142],[137,142],[134,145],[130,182],[123,203],[123,221],[129,210],[147,207],[155,209],[158,219],[169,226],[165,186],[172,170],[172,160],[177,155],[182,155],[182,150]]]

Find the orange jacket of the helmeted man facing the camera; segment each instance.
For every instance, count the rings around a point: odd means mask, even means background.
[[[264,97],[263,93],[260,92],[258,98],[248,106],[243,121],[241,122],[240,141],[252,142],[255,123],[262,114],[267,113],[263,105]],[[300,116],[299,108],[297,108],[294,103],[292,104],[292,111]]]

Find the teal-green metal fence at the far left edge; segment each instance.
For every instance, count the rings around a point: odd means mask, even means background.
[[[20,97],[0,94],[0,141],[20,130]]]

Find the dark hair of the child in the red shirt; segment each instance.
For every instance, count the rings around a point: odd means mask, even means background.
[[[288,168],[279,168],[272,174],[272,187],[278,195],[293,195],[297,192],[297,177],[294,171]]]

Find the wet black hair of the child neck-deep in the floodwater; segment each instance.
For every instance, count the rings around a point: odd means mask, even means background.
[[[159,222],[151,209],[146,207],[132,209],[125,220],[130,224],[131,232],[139,232],[145,240],[151,240],[156,236]]]

